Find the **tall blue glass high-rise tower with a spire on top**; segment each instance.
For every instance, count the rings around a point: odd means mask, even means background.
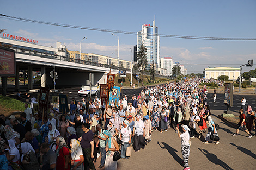
[[[154,61],[156,68],[160,67],[159,40],[158,27],[155,26],[155,20],[153,21],[153,26],[143,24],[142,30],[137,32],[137,53],[138,48],[144,43],[147,48],[148,64],[152,64]]]

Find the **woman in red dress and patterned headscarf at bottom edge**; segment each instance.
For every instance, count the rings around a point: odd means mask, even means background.
[[[69,168],[69,149],[66,146],[64,137],[56,138],[56,170],[70,169]]]

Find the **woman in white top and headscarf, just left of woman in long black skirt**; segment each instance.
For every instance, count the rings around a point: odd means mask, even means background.
[[[121,158],[128,159],[126,156],[126,149],[131,144],[132,138],[132,131],[129,127],[128,121],[123,121],[123,127],[121,128],[120,140],[122,140],[122,147],[121,147]]]

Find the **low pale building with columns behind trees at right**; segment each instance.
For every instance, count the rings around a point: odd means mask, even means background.
[[[221,75],[228,76],[229,80],[236,80],[239,77],[240,68],[233,67],[214,67],[214,68],[205,68],[204,77],[206,79],[218,79]]]

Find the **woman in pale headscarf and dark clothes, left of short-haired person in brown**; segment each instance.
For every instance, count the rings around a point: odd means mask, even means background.
[[[35,150],[32,148],[30,143],[21,143],[21,162],[25,170],[39,169],[38,158],[35,155]]]

